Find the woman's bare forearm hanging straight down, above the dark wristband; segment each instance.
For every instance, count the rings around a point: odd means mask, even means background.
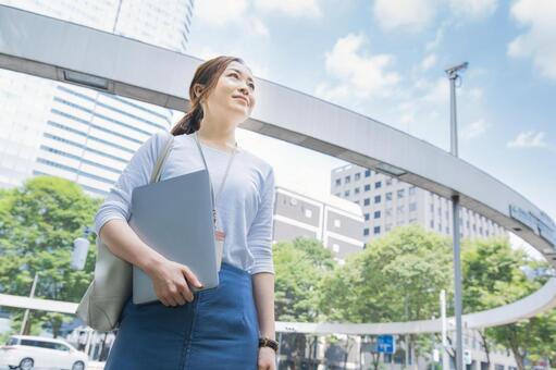
[[[269,272],[254,274],[252,291],[257,305],[260,336],[274,340],[274,274]]]

